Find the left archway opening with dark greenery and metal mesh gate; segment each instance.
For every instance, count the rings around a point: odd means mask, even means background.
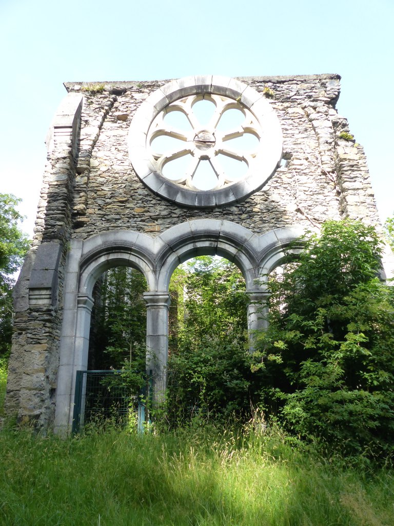
[[[138,270],[114,267],[96,281],[88,370],[77,371],[74,431],[86,424],[142,429],[146,375],[147,282]]]

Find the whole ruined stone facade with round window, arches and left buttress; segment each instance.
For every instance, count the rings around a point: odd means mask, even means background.
[[[266,276],[303,231],[344,217],[379,224],[364,151],[335,109],[339,81],[211,75],[65,84],[47,137],[33,246],[15,288],[9,415],[70,431],[92,290],[109,268],[146,277],[147,363],[163,370],[169,280],[181,262],[203,254],[234,261],[255,329],[264,325]],[[208,117],[196,111],[201,101],[211,104]]]

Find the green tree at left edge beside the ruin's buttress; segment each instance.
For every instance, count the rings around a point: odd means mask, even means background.
[[[16,210],[20,199],[0,194],[0,357],[7,356],[12,337],[14,274],[23,263],[29,241],[19,229],[23,217]]]

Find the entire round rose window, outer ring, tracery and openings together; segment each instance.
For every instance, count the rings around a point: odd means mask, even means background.
[[[195,111],[201,101],[212,103],[203,118]],[[241,124],[226,119],[234,110],[242,114]],[[167,116],[182,116],[183,122],[175,118],[173,125]],[[242,200],[266,183],[282,157],[282,132],[265,97],[246,84],[191,77],[162,86],[140,106],[129,153],[154,193],[180,205],[214,207]],[[233,168],[240,165],[245,175]]]

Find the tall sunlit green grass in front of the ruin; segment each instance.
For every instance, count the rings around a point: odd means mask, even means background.
[[[60,440],[0,432],[0,524],[385,526],[394,480],[291,447],[278,430],[212,427]]]

